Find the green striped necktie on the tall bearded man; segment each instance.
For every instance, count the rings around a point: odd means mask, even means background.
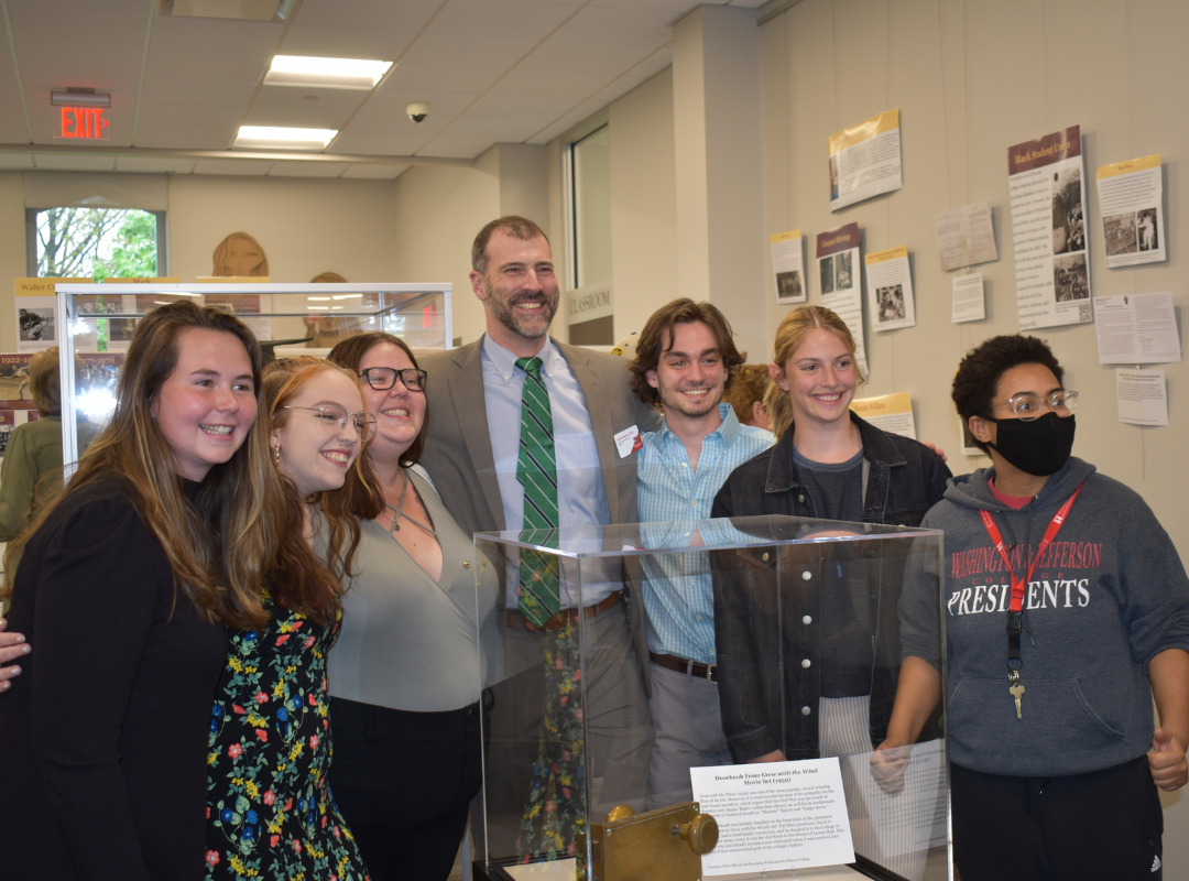
[[[516,366],[524,371],[516,461],[516,479],[524,486],[526,531],[522,539],[534,545],[552,545],[558,527],[558,460],[553,448],[549,391],[541,378],[540,358],[520,358]],[[558,558],[522,549],[518,593],[521,615],[531,624],[543,627],[561,608]]]

